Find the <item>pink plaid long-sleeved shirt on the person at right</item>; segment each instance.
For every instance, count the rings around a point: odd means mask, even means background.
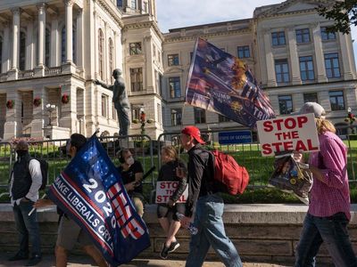
[[[331,132],[319,134],[319,141],[320,152],[311,153],[309,164],[320,169],[323,182],[313,179],[308,213],[328,217],[343,212],[350,220],[347,148],[344,142]]]

